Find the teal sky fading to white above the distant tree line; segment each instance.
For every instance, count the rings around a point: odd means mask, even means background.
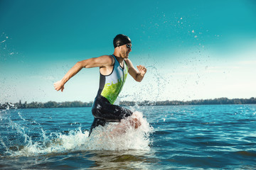
[[[256,1],[0,0],[0,102],[93,101],[99,69],[80,61],[111,55],[112,40],[132,39],[129,59],[143,64],[120,100],[256,97]]]

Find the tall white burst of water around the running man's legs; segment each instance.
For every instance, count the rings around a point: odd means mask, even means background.
[[[107,127],[97,127],[92,132],[90,149],[127,150],[127,149],[149,149],[149,133],[153,128],[149,126],[142,113],[135,112],[131,117],[122,120],[121,123],[112,123]],[[139,128],[134,129],[131,125],[132,118],[137,118],[142,123]]]

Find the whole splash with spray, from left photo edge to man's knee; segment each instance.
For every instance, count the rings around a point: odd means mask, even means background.
[[[151,140],[150,133],[153,128],[143,117],[142,113],[135,112],[131,117],[122,120],[121,123],[109,123],[105,127],[99,126],[92,131],[89,137],[87,130],[81,127],[69,130],[68,132],[46,132],[43,125],[34,123],[40,129],[39,137],[30,135],[26,124],[28,120],[18,113],[20,122],[14,122],[8,116],[0,115],[5,120],[6,128],[14,131],[18,140],[13,142],[0,136],[0,147],[5,149],[4,157],[34,157],[48,154],[65,154],[69,152],[80,152],[88,150],[149,150]],[[135,129],[132,125],[132,118],[137,118],[142,123]],[[35,122],[35,120],[30,123]],[[2,128],[3,126],[1,126]],[[3,156],[1,156],[3,157]]]

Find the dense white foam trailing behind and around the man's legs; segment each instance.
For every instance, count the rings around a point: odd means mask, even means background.
[[[132,123],[134,118],[141,122],[139,128],[134,128]],[[68,134],[52,132],[49,136],[46,136],[43,128],[41,131],[41,141],[33,142],[31,137],[26,136],[27,145],[18,151],[9,150],[9,154],[14,157],[31,157],[87,150],[149,150],[151,143],[149,135],[153,128],[146,118],[143,118],[142,113],[135,112],[121,123],[109,123],[105,127],[98,126],[92,131],[90,137],[88,137],[89,132],[82,131],[81,128],[70,130]]]

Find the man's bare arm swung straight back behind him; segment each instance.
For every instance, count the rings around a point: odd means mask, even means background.
[[[81,62],[77,62],[61,79],[60,81],[55,82],[54,88],[56,91],[63,91],[64,84],[71,79],[71,77],[75,76],[82,68],[92,68],[92,67],[108,67],[112,65],[112,57],[108,55],[103,55],[97,58],[90,58],[87,60],[82,60]]]

